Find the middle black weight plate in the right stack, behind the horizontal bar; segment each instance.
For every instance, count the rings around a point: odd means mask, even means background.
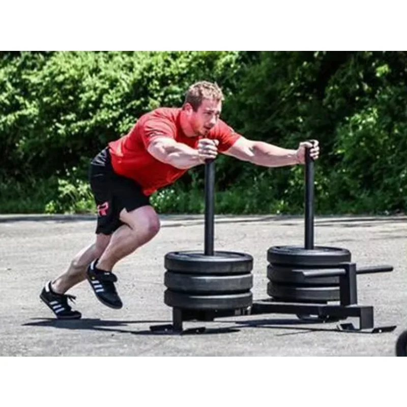
[[[267,278],[271,282],[285,283],[287,285],[304,286],[332,286],[339,285],[339,277],[304,277],[302,271],[310,269],[299,269],[295,266],[267,266]],[[318,269],[321,270],[321,269]],[[330,269],[332,270],[332,269]]]

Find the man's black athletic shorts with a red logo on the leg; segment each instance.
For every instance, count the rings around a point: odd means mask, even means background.
[[[98,212],[97,234],[111,235],[119,228],[123,224],[119,217],[124,208],[130,212],[150,205],[150,198],[143,194],[140,185],[113,171],[108,148],[92,160],[89,180]]]

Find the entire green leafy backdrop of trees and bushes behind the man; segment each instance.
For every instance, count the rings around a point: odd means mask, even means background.
[[[405,211],[405,51],[4,52],[0,211],[93,212],[89,160],[202,79],[222,86],[222,119],[246,137],[292,149],[319,140],[317,213]],[[220,156],[216,209],[301,213],[303,183],[300,166]],[[161,213],[203,213],[203,166],[152,201]]]

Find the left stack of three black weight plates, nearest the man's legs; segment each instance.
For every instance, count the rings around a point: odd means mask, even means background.
[[[164,257],[164,303],[193,310],[250,307],[253,257],[238,252],[169,252]]]

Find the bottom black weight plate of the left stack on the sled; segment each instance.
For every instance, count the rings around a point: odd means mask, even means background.
[[[164,292],[164,303],[182,309],[239,309],[251,307],[253,295],[249,293],[201,296],[176,293],[169,289]]]

